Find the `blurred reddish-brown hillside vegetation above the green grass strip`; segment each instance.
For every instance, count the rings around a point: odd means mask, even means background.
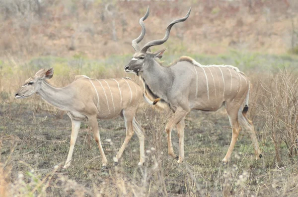
[[[1,0],[0,56],[103,58],[132,53],[139,18],[150,7],[142,44],[163,37],[172,53],[222,54],[230,49],[298,52],[296,0]]]

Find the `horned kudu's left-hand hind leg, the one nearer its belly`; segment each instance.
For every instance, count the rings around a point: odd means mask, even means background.
[[[227,163],[231,157],[231,153],[234,149],[234,146],[237,142],[238,139],[238,135],[240,132],[240,127],[239,127],[239,123],[238,123],[238,119],[237,119],[237,112],[238,110],[228,110],[227,108],[227,114],[228,114],[228,119],[230,121],[231,127],[232,127],[232,140],[231,140],[231,144],[226,152],[226,155],[224,156],[223,162]]]

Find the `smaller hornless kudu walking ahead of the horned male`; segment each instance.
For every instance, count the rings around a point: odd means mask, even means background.
[[[52,78],[53,74],[53,68],[39,70],[25,81],[15,94],[15,98],[28,98],[36,93],[48,103],[67,111],[72,120],[72,135],[71,147],[64,168],[71,164],[78,130],[81,121],[86,119],[100,150],[103,168],[106,168],[107,159],[101,146],[97,119],[112,119],[118,115],[124,117],[126,137],[114,162],[117,164],[135,131],[140,142],[139,165],[142,165],[145,161],[145,138],[142,127],[135,118],[143,96],[141,87],[129,78],[97,80],[81,75],[77,76],[68,86],[55,88],[47,81]]]

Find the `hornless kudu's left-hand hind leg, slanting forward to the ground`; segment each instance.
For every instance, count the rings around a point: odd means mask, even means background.
[[[126,148],[130,139],[134,135],[134,130],[133,130],[134,115],[135,115],[135,111],[133,111],[133,110],[123,110],[124,123],[125,123],[125,127],[126,127],[126,135],[125,135],[125,140],[124,140],[121,148],[119,149],[118,153],[116,154],[116,157],[114,158],[115,164],[118,163],[119,158],[121,157],[124,149]]]

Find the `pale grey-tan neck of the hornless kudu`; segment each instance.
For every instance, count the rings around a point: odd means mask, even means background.
[[[55,88],[49,83],[41,82],[41,89],[37,92],[44,100],[62,110],[69,111],[72,106],[73,91],[69,86]]]

